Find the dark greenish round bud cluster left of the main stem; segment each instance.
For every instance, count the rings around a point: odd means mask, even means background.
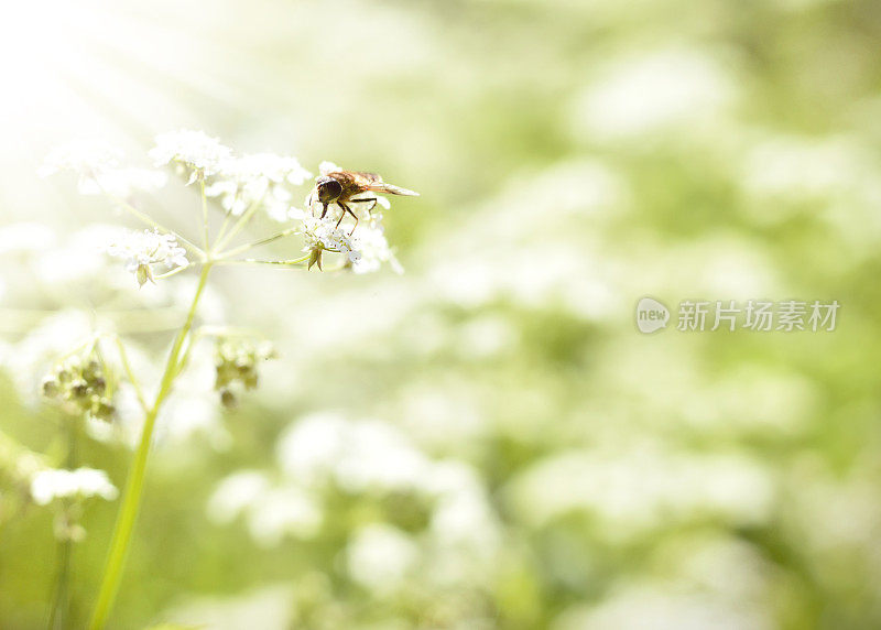
[[[58,363],[43,380],[43,395],[72,415],[109,422],[116,414],[113,388],[97,355],[74,355]]]

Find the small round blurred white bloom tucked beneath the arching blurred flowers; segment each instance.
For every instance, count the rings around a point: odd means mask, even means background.
[[[346,548],[351,578],[377,594],[388,594],[403,584],[420,552],[401,530],[374,523],[359,529]]]

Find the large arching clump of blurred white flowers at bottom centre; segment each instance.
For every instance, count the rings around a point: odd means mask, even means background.
[[[347,544],[337,564],[360,587],[394,597],[424,566],[443,580],[481,583],[502,550],[498,517],[478,471],[465,461],[434,458],[393,424],[322,412],[300,419],[276,445],[276,470],[239,470],[224,479],[207,506],[209,518],[243,518],[261,546],[285,537]],[[337,518],[339,492],[358,514]],[[334,544],[337,544],[336,542]]]

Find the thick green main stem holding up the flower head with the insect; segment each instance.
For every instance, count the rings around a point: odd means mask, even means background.
[[[193,319],[196,316],[196,306],[198,305],[199,297],[205,290],[208,281],[208,273],[211,270],[211,263],[208,262],[202,268],[199,275],[199,283],[196,287],[196,294],[193,297],[193,304],[189,306],[189,312],[186,316],[186,322],[177,334],[172,345],[168,360],[165,363],[165,372],[162,376],[159,393],[153,402],[153,406],[146,413],[144,419],[144,426],[141,432],[141,441],[138,444],[138,450],[134,455],[129,478],[126,481],[126,496],[122,499],[122,506],[117,517],[117,524],[113,529],[113,537],[110,542],[110,553],[107,557],[107,567],[105,568],[104,578],[101,580],[101,588],[98,593],[98,602],[95,605],[95,612],[89,623],[90,630],[100,630],[107,623],[107,618],[110,616],[110,610],[113,607],[117,591],[119,590],[119,583],[122,577],[122,565],[126,561],[126,554],[131,541],[131,533],[134,529],[134,521],[138,517],[138,508],[141,503],[141,495],[143,492],[144,476],[146,472],[146,456],[150,453],[150,439],[153,435],[153,427],[156,423],[162,403],[171,392],[172,384],[175,376],[177,376],[178,359],[181,356],[181,348],[189,335],[193,327]]]

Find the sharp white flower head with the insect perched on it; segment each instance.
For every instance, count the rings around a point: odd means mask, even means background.
[[[63,170],[75,171],[79,174],[81,193],[107,194],[123,209],[157,228],[127,238],[122,242],[111,243],[107,248],[111,256],[128,261],[129,270],[135,274],[138,284],[143,286],[148,281],[154,281],[154,265],[165,267],[161,273],[187,267],[185,250],[178,243],[197,258],[203,252],[173,229],[145,218],[145,214],[133,203],[123,200],[134,189],[151,189],[164,185],[166,175],[156,170],[121,167],[121,151],[107,144],[75,142],[55,149],[46,159],[40,174],[47,176]],[[244,228],[255,211],[261,211],[279,222],[292,219],[302,221],[298,229],[291,228],[282,235],[259,242],[301,233],[305,239],[303,251],[309,253],[308,269],[315,264],[322,269],[323,253],[329,251],[345,257],[336,269],[368,273],[379,270],[387,262],[395,272],[402,271],[385,240],[381,225],[382,214],[373,211],[374,207],[358,203],[358,198],[349,199],[351,213],[358,218],[355,221],[337,204],[330,204],[326,208],[329,209],[328,216],[316,218],[314,191],[307,197],[306,209],[292,204],[291,187],[302,185],[311,176],[292,155],[268,152],[236,155],[217,138],[203,131],[186,129],[156,135],[155,146],[150,150],[149,155],[154,166],[175,166],[186,176],[187,185],[200,182],[204,202],[208,198],[216,199],[226,211],[226,219],[238,218],[235,225],[224,222],[217,237],[218,250]],[[322,162],[318,170],[326,175],[341,169],[333,162]],[[382,196],[377,195],[376,200],[371,198],[370,202],[373,206],[389,208],[388,199]],[[233,249],[237,252],[243,251],[242,248]]]

